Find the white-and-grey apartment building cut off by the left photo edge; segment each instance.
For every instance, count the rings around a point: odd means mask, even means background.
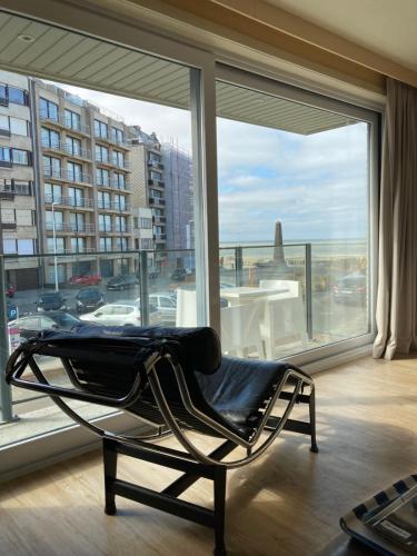
[[[0,71],[0,249],[37,252],[37,215],[29,79]],[[7,259],[6,280],[19,289],[38,284],[36,258]]]

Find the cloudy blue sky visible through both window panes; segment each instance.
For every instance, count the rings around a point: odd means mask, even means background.
[[[186,110],[64,89],[191,151]],[[277,220],[285,241],[365,238],[367,135],[363,122],[301,136],[218,118],[220,241],[270,242]]]

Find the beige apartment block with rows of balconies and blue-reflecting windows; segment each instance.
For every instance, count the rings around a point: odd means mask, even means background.
[[[58,280],[129,271],[131,258],[93,251],[132,246],[128,128],[98,107],[40,80],[32,80],[34,151],[39,175],[41,249],[60,258]],[[77,254],[77,256],[75,256]],[[46,282],[53,281],[53,261]]]

